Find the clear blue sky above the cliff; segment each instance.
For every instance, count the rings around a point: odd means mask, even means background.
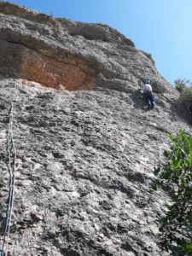
[[[192,0],[11,0],[55,17],[112,26],[150,53],[170,83],[192,80]]]

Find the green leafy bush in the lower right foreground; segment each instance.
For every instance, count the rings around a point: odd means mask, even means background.
[[[167,189],[172,204],[160,220],[160,245],[172,255],[192,255],[192,136],[181,130],[171,136],[164,166],[154,168],[155,187]]]

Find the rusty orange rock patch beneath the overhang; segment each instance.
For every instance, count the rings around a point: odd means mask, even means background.
[[[20,64],[20,76],[47,87],[66,90],[94,90],[95,75],[82,61],[58,61],[27,49]]]

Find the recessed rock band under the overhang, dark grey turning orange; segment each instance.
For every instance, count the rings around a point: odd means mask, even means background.
[[[84,61],[68,56],[60,61],[22,44],[0,40],[0,72],[65,90],[94,90],[94,71]]]

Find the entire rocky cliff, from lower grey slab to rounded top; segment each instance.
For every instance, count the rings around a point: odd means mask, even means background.
[[[151,56],[108,26],[10,3],[0,54],[1,234],[10,102],[17,151],[9,255],[167,255],[157,242],[169,199],[152,171],[189,117]],[[146,77],[153,111],[138,92]]]

